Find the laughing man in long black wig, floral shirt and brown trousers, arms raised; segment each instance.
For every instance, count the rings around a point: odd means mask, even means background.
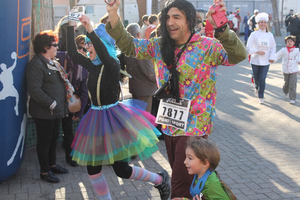
[[[222,1],[222,0],[221,0]],[[217,0],[213,0],[216,3]],[[116,45],[127,56],[152,59],[158,86],[167,83],[165,96],[191,100],[186,129],[162,125],[167,156],[172,168],[171,198],[191,197],[189,186],[192,176],[185,166],[184,146],[188,136],[207,138],[215,116],[216,68],[231,66],[246,58],[246,49],[228,25],[215,28],[214,37],[201,36],[194,31],[196,11],[187,0],[167,0],[159,16],[158,37],[133,38],[124,29],[117,13],[119,0],[106,5],[110,22],[105,28]],[[226,10],[223,2],[220,11]],[[209,10],[209,22],[216,27]],[[170,74],[170,75],[169,75]]]

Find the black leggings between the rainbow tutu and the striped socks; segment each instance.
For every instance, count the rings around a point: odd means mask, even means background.
[[[128,162],[116,161],[111,165],[114,173],[120,178],[128,179],[132,174],[132,167],[129,166]],[[94,175],[101,172],[102,165],[98,165],[98,166],[87,165],[86,169],[88,175]]]

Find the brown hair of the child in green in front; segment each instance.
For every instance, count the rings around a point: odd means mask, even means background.
[[[186,141],[186,147],[193,149],[197,158],[202,162],[205,162],[205,159],[207,159],[211,171],[217,167],[220,161],[220,151],[212,140],[190,136]]]

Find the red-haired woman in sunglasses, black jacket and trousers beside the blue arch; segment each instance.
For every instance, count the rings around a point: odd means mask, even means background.
[[[56,42],[57,36],[52,30],[35,35],[35,55],[26,68],[27,88],[30,94],[28,111],[35,123],[40,178],[48,182],[59,181],[53,173],[68,172],[55,163],[55,150],[60,118],[67,116],[67,100],[74,91],[63,68],[53,59],[57,50]]]

